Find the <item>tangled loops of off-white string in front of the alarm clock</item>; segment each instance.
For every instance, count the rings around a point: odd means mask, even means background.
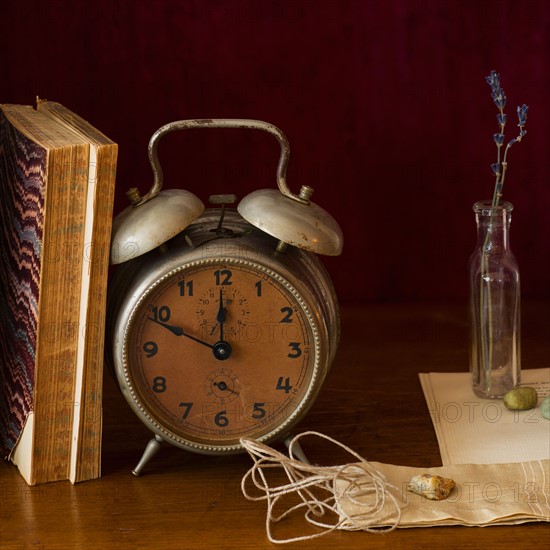
[[[359,464],[313,466],[298,460],[296,456],[301,455],[299,440],[306,436],[320,437],[341,447]],[[384,475],[363,457],[335,439],[318,432],[304,432],[289,443],[289,456],[252,439],[242,439],[241,443],[254,460],[254,465],[243,477],[241,489],[248,500],[267,502],[266,531],[271,542],[309,540],[336,529],[387,533],[399,524],[401,508],[390,490],[394,489],[397,494],[397,487],[388,483]],[[270,486],[268,471],[273,469],[283,470],[289,483]],[[249,484],[260,494],[252,495],[247,488]],[[297,495],[299,502],[287,504],[285,509],[280,503],[291,495]],[[344,499],[357,505],[360,512],[353,516],[346,514],[340,505]],[[278,504],[284,510],[280,514],[275,512]],[[273,524],[298,510],[305,510],[306,521],[323,528],[323,531],[294,538],[275,538]]]

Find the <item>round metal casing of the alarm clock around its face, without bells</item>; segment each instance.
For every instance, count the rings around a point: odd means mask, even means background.
[[[222,214],[223,213],[223,214]],[[220,217],[223,222],[220,227]],[[233,209],[207,209],[182,233],[118,267],[109,291],[109,356],[119,386],[143,423],[162,441],[205,454],[240,452],[241,445],[205,445],[188,441],[166,429],[142,403],[134,389],[126,357],[133,316],[144,295],[157,282],[187,266],[208,263],[241,264],[270,272],[289,292],[299,297],[315,342],[315,367],[307,393],[298,407],[271,432],[259,438],[269,442],[286,436],[314,403],[333,363],[340,341],[338,301],[330,277],[312,252],[288,246],[277,250],[279,240],[254,227]],[[279,247],[280,248],[280,247]]]

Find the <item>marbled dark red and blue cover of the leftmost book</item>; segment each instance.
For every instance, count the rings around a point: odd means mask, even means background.
[[[0,112],[0,446],[7,458],[34,409],[48,151]]]

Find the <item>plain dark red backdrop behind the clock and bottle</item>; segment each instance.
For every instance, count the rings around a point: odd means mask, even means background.
[[[292,149],[291,188],[316,189],[345,235],[326,262],[342,301],[467,296],[471,205],[492,194],[501,73],[510,153],[504,198],[523,296],[550,297],[550,3],[546,0],[8,0],[0,101],[57,100],[120,145],[124,191],[151,185],[147,144],[185,118],[257,118]],[[275,186],[258,132],[164,138],[166,187],[206,200]]]

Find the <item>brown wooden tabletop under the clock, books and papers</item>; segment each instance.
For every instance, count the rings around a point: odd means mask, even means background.
[[[367,459],[419,467],[441,459],[419,372],[468,368],[464,306],[342,308],[341,348],[316,404],[298,431],[324,432]],[[523,309],[523,367],[550,364],[550,304]],[[150,439],[113,380],[105,377],[103,477],[28,487],[0,463],[0,548],[271,548],[265,506],[241,495],[248,456],[204,457],[163,447],[140,478],[130,471]],[[310,458],[348,461],[311,443]],[[302,532],[298,518],[280,536]],[[397,529],[385,535],[335,532],[296,548],[542,548],[550,524]]]

